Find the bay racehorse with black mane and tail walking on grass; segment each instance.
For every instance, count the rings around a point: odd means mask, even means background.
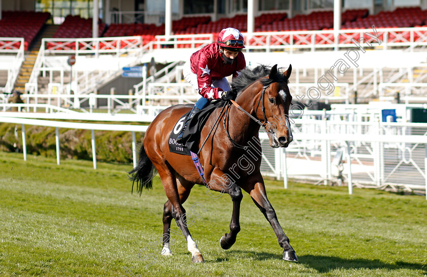
[[[238,91],[235,105],[229,105],[225,113],[220,108],[215,109],[201,131],[199,148],[205,138],[208,138],[199,153],[199,160],[204,168],[207,188],[228,193],[233,202],[230,232],[221,237],[221,247],[229,249],[235,243],[237,233],[240,231],[239,213],[243,189],[250,194],[271,224],[279,245],[283,248],[283,259],[297,262],[298,258],[289,244],[289,238],[285,235],[276,212],[267,199],[264,180],[260,173],[261,144],[258,138],[260,125],[263,125],[268,132],[270,147],[287,147],[292,141],[288,119],[292,100],[288,88],[291,72],[292,66],[289,65],[286,72],[280,73],[277,64],[272,67],[259,65],[253,70],[249,68],[243,70],[231,83],[232,89]],[[236,108],[238,106],[240,107]],[[190,110],[189,106],[176,105],[159,113],[145,133],[138,164],[129,174],[141,194],[143,188],[152,188],[151,180],[156,171],[159,172],[168,198],[163,211],[162,255],[172,255],[169,239],[173,218],[187,239],[192,261],[198,263],[204,262],[203,256],[190,234],[186,211],[182,204],[189,197],[195,184],[204,184],[203,179],[190,156],[171,153],[168,147],[168,137],[175,123]],[[220,122],[218,119],[222,120],[223,124],[216,125]],[[212,135],[208,136],[210,132]],[[252,151],[248,151],[248,145],[251,145]],[[243,156],[246,157],[246,165],[241,159],[237,159]],[[254,160],[252,163],[254,166],[250,169],[248,157]]]

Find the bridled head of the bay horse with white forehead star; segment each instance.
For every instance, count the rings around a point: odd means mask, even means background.
[[[289,106],[292,96],[288,83],[292,65],[284,74],[278,72],[277,64],[271,67],[266,78],[262,78],[262,90],[256,99],[255,113],[264,120],[264,130],[268,133],[270,146],[273,148],[288,147],[292,142],[292,131],[289,122]]]

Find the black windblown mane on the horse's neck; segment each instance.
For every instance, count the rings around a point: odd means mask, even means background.
[[[246,67],[240,72],[240,75],[238,77],[233,79],[233,82],[230,84],[231,89],[240,93],[253,82],[257,81],[262,77],[268,76],[270,74],[270,71],[271,66],[267,66],[264,64],[260,64],[253,69]],[[263,78],[261,80],[263,86],[267,86],[274,82],[286,82],[286,84],[288,84],[289,80],[285,77],[285,75],[279,73],[279,71],[278,74],[276,74],[275,78]]]

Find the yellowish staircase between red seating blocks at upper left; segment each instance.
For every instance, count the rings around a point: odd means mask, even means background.
[[[24,92],[25,84],[28,83],[29,76],[33,71],[34,63],[36,62],[37,55],[39,54],[40,46],[42,45],[42,39],[44,38],[53,38],[53,34],[58,29],[59,25],[45,25],[42,29],[36,41],[24,55],[24,62],[22,63],[21,70],[19,72],[18,78],[15,82],[15,89]]]

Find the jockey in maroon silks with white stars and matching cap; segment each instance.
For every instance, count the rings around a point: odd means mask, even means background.
[[[220,32],[216,43],[211,43],[193,53],[190,62],[185,63],[182,74],[203,97],[197,100],[188,115],[178,134],[177,143],[183,143],[182,134],[188,122],[211,100],[236,98],[225,77],[230,75],[233,75],[233,78],[237,77],[246,67],[245,56],[241,52],[243,48],[245,48],[245,41],[240,31],[235,28],[225,28]]]

